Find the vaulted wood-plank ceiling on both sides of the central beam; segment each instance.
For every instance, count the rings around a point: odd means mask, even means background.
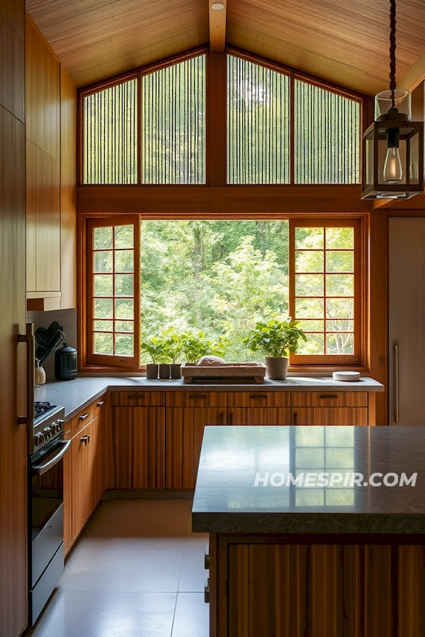
[[[27,0],[77,86],[208,42],[208,0]],[[226,41],[373,95],[388,84],[388,0],[227,0]],[[397,81],[425,53],[424,0],[397,0]]]

